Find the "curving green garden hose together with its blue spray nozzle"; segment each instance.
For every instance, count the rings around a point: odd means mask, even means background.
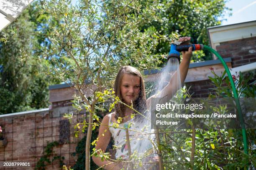
[[[237,90],[236,90],[235,83],[233,82],[233,78],[232,78],[232,75],[231,75],[231,73],[229,71],[229,68],[228,68],[227,64],[225,63],[223,58],[220,56],[220,54],[217,51],[215,51],[214,49],[212,49],[211,47],[206,46],[206,45],[202,45],[202,44],[188,44],[187,42],[189,42],[189,41],[180,42],[180,41],[176,40],[176,41],[172,42],[171,43],[171,49],[170,49],[169,55],[167,57],[167,61],[170,58],[172,58],[172,57],[175,57],[175,58],[177,58],[180,61],[180,54],[179,54],[179,52],[188,51],[189,47],[192,47],[192,51],[195,51],[195,50],[208,50],[211,53],[215,54],[216,57],[218,57],[220,62],[223,64],[223,66],[225,68],[225,71],[227,72],[227,75],[228,75],[228,78],[229,78],[229,81],[230,81],[230,84],[231,84],[231,87],[232,87],[234,99],[236,101],[236,107],[237,107],[237,110],[238,110],[239,120],[240,120],[241,127],[242,127],[244,153],[248,154],[248,145],[247,145],[247,138],[246,138],[246,128],[245,128],[243,117],[242,117],[241,105],[240,105],[240,102],[239,102],[238,93],[237,93]]]

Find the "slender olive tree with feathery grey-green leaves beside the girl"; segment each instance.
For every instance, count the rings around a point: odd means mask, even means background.
[[[141,31],[141,21],[150,23],[156,17],[154,3],[146,7],[139,0],[41,1],[41,13],[49,15],[51,45],[42,47],[44,56],[53,67],[51,72],[77,89],[77,109],[86,108],[86,170],[90,169],[90,141],[99,96],[113,87],[114,77],[121,65],[137,66],[139,70],[156,68],[159,55],[154,49],[164,38],[155,38],[157,32],[148,28]]]

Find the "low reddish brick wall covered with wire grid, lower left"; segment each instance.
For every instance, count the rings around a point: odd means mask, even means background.
[[[0,170],[33,170],[43,155],[47,142],[59,141],[59,122],[64,120],[63,114],[72,111],[72,107],[57,107],[49,111],[1,117],[0,125],[5,128],[4,137],[7,138],[8,144],[0,148]],[[74,125],[82,122],[84,113],[74,112],[74,115],[76,118],[69,126],[69,142],[54,147],[54,154],[51,155],[51,158],[58,155],[64,156],[64,164],[68,166],[74,165],[76,158],[72,153],[75,152],[79,140],[84,137],[84,134],[80,133],[79,138],[74,138]],[[3,167],[3,162],[27,162],[31,166],[8,168]],[[59,160],[47,165],[46,170],[52,169],[60,169]]]

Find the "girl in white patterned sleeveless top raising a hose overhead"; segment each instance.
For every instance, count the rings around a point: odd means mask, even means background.
[[[189,40],[190,40],[190,37],[182,37],[179,39],[179,41],[182,41],[182,42],[189,41]],[[183,56],[183,60],[179,65],[179,70],[181,70],[180,80],[183,83],[187,76],[189,62],[192,56],[192,47],[190,47],[188,51],[182,52],[182,56]],[[171,83],[172,82],[169,82],[168,85],[166,85],[166,87],[164,87],[164,89],[161,90],[161,92],[158,94],[157,97],[170,95],[172,91]],[[122,102],[124,102],[126,105],[129,105],[129,106],[133,105],[133,108],[135,110],[138,110],[140,113],[143,113],[151,103],[152,96],[146,100],[145,85],[144,85],[143,77],[141,73],[134,67],[124,66],[119,70],[118,75],[115,79],[114,90],[115,90],[115,95],[117,95]],[[98,135],[99,140],[97,141],[95,148],[97,150],[101,149],[102,152],[105,152],[108,146],[108,143],[110,141],[110,138],[112,136],[113,140],[115,141],[115,146],[118,146],[116,148],[115,158],[127,160],[129,156],[128,156],[128,146],[126,144],[125,130],[119,129],[119,128],[113,128],[109,126],[113,125],[113,123],[118,123],[117,121],[118,117],[122,117],[119,127],[123,128],[125,125],[127,127],[128,123],[131,122],[132,120],[131,115],[133,113],[134,111],[129,107],[126,107],[125,105],[120,103],[116,104],[115,112],[105,115],[105,117],[102,120],[102,123],[100,125],[99,135]],[[140,127],[138,122],[140,122],[141,118],[142,118],[141,115],[136,115],[133,118],[133,122],[136,122],[138,125],[137,127]],[[136,126],[136,123],[135,123],[135,126]],[[129,133],[129,135],[131,135],[131,133]],[[152,144],[145,141],[146,140],[136,140],[136,139],[133,140],[130,137],[131,150],[138,151],[138,148],[144,148],[144,150],[149,150],[150,148],[152,148]],[[126,165],[126,163],[122,161],[119,161],[119,162],[117,161],[115,163],[110,160],[102,161],[101,158],[95,157],[95,156],[92,157],[92,160],[98,166],[100,167],[104,166],[103,168],[106,170],[120,170],[124,168]],[[154,160],[158,160],[157,157],[155,157]]]

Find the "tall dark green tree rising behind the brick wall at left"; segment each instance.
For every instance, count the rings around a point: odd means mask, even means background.
[[[0,114],[49,106],[50,61],[39,60],[50,43],[45,37],[47,15],[29,6],[0,33]]]

